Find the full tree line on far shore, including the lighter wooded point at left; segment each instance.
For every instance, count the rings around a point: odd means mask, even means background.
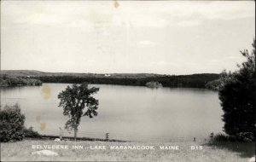
[[[36,76],[32,78],[14,77],[2,75],[0,78],[0,87],[17,85],[41,85],[42,83],[62,83],[62,84],[118,84],[145,86],[148,82],[158,82],[164,87],[185,87],[185,88],[209,88],[208,83],[217,80],[219,74],[201,73],[191,75],[170,75],[147,78],[108,78],[108,77],[79,77],[71,75],[62,76]],[[209,88],[211,89],[211,87]]]

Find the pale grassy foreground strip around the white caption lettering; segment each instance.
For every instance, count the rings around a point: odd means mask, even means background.
[[[40,149],[32,145],[68,145],[69,149],[52,149],[58,156],[32,155]],[[74,145],[84,147],[106,146],[106,150],[72,149]],[[191,150],[191,146],[200,146],[195,142],[69,142],[25,140],[22,142],[1,143],[1,161],[248,161],[239,153],[225,148],[203,145],[201,150]],[[154,146],[154,150],[113,150],[110,146]],[[179,150],[160,150],[160,146],[179,146]]]

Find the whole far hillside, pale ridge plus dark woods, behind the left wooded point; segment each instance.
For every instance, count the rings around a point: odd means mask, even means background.
[[[29,70],[4,70],[2,77],[34,78],[43,83],[80,84],[119,84],[146,86],[149,82],[158,82],[164,87],[207,88],[206,84],[219,78],[219,74],[201,73],[191,75],[160,75],[154,73],[71,73],[40,72]]]

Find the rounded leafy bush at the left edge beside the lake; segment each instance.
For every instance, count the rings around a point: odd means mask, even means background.
[[[0,142],[20,141],[24,137],[25,116],[20,112],[20,106],[6,105],[0,111]]]

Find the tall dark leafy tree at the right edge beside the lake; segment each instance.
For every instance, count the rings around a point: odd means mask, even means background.
[[[241,55],[247,61],[238,66],[238,71],[225,76],[218,96],[224,110],[224,131],[237,139],[255,140],[255,39],[253,52],[249,54],[247,50],[243,50]]]

